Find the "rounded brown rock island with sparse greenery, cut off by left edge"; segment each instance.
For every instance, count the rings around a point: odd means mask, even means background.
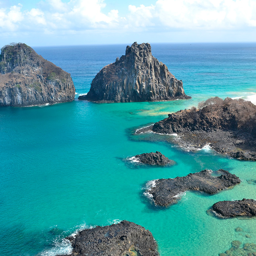
[[[72,101],[70,74],[26,44],[8,45],[0,55],[0,106],[31,106]]]

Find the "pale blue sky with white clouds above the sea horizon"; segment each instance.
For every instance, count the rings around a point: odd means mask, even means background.
[[[0,0],[0,47],[256,42],[256,0]]]

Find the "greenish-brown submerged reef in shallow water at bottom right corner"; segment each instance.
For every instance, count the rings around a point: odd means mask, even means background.
[[[238,240],[232,241],[231,248],[219,256],[256,256],[256,244],[246,243],[240,247],[241,244]]]

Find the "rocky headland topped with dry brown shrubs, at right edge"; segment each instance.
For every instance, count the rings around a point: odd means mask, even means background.
[[[137,133],[179,135],[176,142],[183,148],[203,148],[210,145],[215,151],[231,157],[256,160],[256,106],[242,99],[210,98],[198,108],[180,110]]]

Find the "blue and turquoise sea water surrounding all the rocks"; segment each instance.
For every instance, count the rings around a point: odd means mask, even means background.
[[[71,73],[77,98],[89,91],[100,68],[124,54],[125,47],[35,50]],[[149,229],[161,256],[213,256],[230,248],[233,240],[256,243],[256,219],[219,220],[206,213],[220,200],[256,199],[256,185],[247,182],[256,180],[256,163],[207,150],[185,152],[156,134],[132,135],[139,126],[210,96],[253,96],[256,44],[152,44],[152,53],[183,80],[191,100],[114,104],[75,100],[45,107],[0,108],[2,255],[65,253],[70,247],[63,237],[124,219]],[[125,160],[156,150],[177,164],[148,167]],[[143,196],[148,180],[205,168],[223,168],[242,182],[213,196],[187,192],[168,208],[154,207]],[[236,227],[244,232],[235,232]]]

